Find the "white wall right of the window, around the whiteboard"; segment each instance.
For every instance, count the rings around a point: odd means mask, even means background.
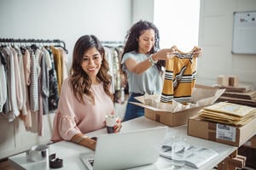
[[[198,81],[214,84],[218,75],[236,75],[256,88],[256,55],[231,54],[233,13],[255,11],[255,0],[201,0]],[[256,47],[255,47],[256,48]]]

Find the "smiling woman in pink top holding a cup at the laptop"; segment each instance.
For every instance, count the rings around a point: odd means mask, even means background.
[[[113,113],[108,70],[101,42],[93,35],[80,37],[73,49],[71,75],[62,84],[53,141],[64,139],[95,150],[96,140],[84,133],[106,127],[105,116]],[[115,130],[120,127],[118,121]]]

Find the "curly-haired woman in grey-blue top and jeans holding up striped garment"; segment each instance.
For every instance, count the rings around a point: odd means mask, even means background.
[[[121,59],[128,79],[130,97],[124,121],[144,115],[143,107],[129,102],[138,102],[134,97],[143,94],[161,94],[163,66],[171,48],[160,49],[159,31],[153,23],[140,20],[128,31]]]

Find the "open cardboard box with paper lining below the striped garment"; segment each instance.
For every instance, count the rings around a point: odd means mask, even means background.
[[[144,116],[148,117],[151,120],[154,120],[156,122],[161,122],[163,124],[166,124],[170,127],[176,127],[183,124],[186,124],[188,122],[188,119],[190,116],[195,116],[198,114],[198,112],[205,107],[206,105],[212,105],[221,94],[224,93],[224,89],[219,88],[212,88],[209,86],[199,85],[196,84],[195,88],[198,89],[197,93],[192,94],[192,98],[195,102],[201,103],[201,106],[189,108],[183,111],[165,111],[159,108],[156,108],[152,105],[146,105],[144,101],[144,97],[140,96],[136,99],[139,100],[142,103],[138,102],[131,102],[134,105],[139,105],[144,107]],[[154,98],[154,96],[152,96]],[[207,102],[202,102],[202,101]],[[209,103],[210,102],[210,103]]]

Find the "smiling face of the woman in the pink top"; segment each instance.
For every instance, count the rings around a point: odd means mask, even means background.
[[[102,55],[95,48],[89,48],[84,52],[81,67],[90,77],[92,83],[96,83],[96,75],[100,71],[102,65]]]

